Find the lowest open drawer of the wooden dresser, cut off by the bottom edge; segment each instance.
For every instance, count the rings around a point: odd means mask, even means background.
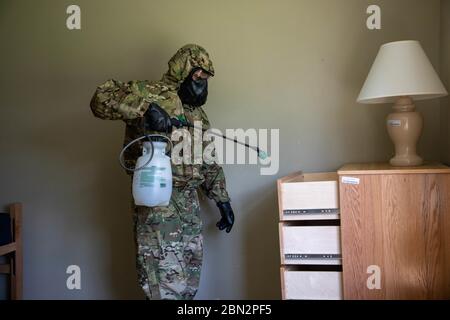
[[[281,268],[284,300],[342,300],[342,272]]]

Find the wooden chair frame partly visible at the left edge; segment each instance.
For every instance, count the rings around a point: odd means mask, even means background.
[[[0,264],[0,273],[10,275],[11,300],[22,299],[23,260],[22,260],[22,204],[9,206],[12,242],[0,246],[0,256],[6,256],[9,263]]]

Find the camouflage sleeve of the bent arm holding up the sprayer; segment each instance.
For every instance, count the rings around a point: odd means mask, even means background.
[[[142,117],[150,104],[147,81],[127,83],[108,80],[97,87],[91,100],[91,110],[105,120],[133,120]]]

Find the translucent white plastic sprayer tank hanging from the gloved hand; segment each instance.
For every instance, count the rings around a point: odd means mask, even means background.
[[[137,206],[165,207],[172,195],[172,167],[166,156],[167,143],[153,142],[153,158],[144,168],[133,175],[133,198]],[[144,142],[142,156],[136,168],[142,167],[151,156],[151,142]]]

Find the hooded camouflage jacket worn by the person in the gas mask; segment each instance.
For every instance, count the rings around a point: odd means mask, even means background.
[[[161,81],[130,81],[127,83],[108,80],[95,91],[91,100],[94,115],[106,120],[123,120],[126,123],[124,145],[144,135],[144,114],[150,103],[156,103],[170,117],[185,117],[190,123],[201,121],[203,128],[210,124],[201,107],[183,105],[177,91],[183,80],[193,68],[200,67],[214,75],[214,68],[208,53],[200,46],[186,45],[170,59],[169,70]],[[194,141],[193,130],[189,129]],[[170,138],[170,137],[169,137]],[[204,143],[204,147],[209,144]],[[134,167],[142,153],[142,145],[136,143],[125,154],[125,163]],[[175,187],[200,187],[205,194],[217,201],[229,201],[225,176],[217,164],[172,163],[173,184]]]

